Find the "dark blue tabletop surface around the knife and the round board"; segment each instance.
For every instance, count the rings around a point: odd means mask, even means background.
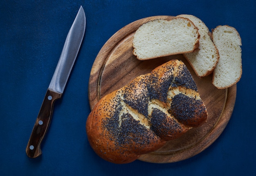
[[[35,159],[27,141],[70,26],[83,6],[81,51]],[[90,69],[103,44],[123,26],[154,15],[192,14],[209,29],[228,24],[242,38],[243,75],[234,112],[220,137],[185,161],[108,163],[90,148]],[[256,1],[254,0],[1,0],[0,175],[256,175]]]

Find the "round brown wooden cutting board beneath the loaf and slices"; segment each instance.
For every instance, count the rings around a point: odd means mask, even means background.
[[[132,37],[135,31],[150,20],[171,20],[172,16],[153,16],[137,20],[117,31],[99,51],[89,80],[89,101],[91,109],[108,93],[128,84],[135,77],[149,73],[155,67],[171,60],[182,60],[193,76],[200,97],[208,112],[207,121],[198,128],[192,128],[178,139],[168,141],[155,152],[141,155],[139,160],[150,163],[172,163],[195,156],[209,147],[225,129],[236,101],[236,85],[227,89],[217,89],[212,84],[212,74],[197,77],[183,57],[173,55],[146,61],[139,61],[132,54]]]

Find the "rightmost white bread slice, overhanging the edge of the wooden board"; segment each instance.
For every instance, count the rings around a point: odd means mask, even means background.
[[[242,42],[238,31],[231,26],[217,26],[212,31],[213,42],[220,59],[213,71],[212,83],[219,89],[236,84],[242,75]]]

